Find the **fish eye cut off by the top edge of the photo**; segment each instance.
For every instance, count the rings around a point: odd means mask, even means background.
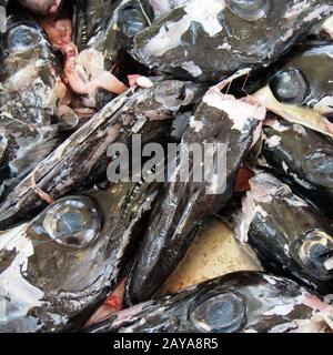
[[[226,4],[233,13],[246,21],[264,18],[271,10],[270,0],[226,0]]]

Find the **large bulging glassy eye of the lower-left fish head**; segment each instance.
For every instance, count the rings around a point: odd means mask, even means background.
[[[42,227],[53,241],[81,248],[98,236],[101,216],[91,200],[69,196],[51,205],[42,220]]]

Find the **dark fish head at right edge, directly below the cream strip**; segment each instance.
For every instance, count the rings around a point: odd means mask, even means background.
[[[262,154],[273,173],[333,217],[333,143],[282,120],[263,128]]]

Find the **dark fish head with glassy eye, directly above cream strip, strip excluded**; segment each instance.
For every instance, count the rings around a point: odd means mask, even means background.
[[[275,70],[278,72],[269,80],[275,99],[333,115],[332,42],[299,44]]]

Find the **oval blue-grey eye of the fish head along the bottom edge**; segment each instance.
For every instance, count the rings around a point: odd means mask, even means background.
[[[233,333],[246,320],[246,308],[234,293],[206,295],[190,307],[190,321],[202,333]]]

